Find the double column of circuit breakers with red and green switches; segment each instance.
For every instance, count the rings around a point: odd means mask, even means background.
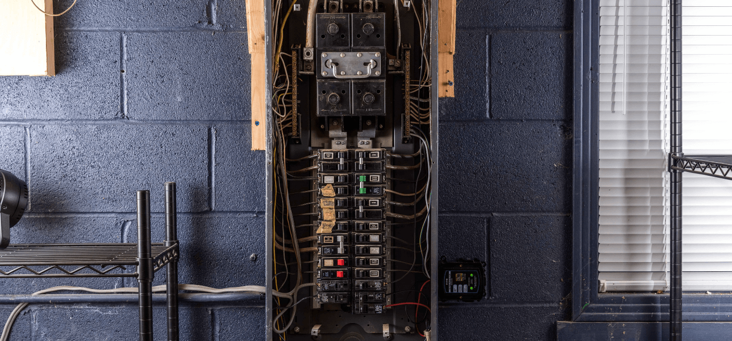
[[[318,151],[318,302],[386,304],[386,150]]]

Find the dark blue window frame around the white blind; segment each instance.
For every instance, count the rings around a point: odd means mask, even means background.
[[[598,292],[600,0],[576,0],[572,151],[572,321],[668,321],[668,292]],[[683,321],[732,321],[732,294],[684,293]]]

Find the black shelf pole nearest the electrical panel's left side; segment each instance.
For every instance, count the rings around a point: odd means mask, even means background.
[[[165,247],[178,244],[176,183],[165,183]],[[179,253],[180,254],[180,253]],[[178,258],[167,265],[168,341],[178,341]]]

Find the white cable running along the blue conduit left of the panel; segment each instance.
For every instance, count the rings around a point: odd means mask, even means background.
[[[307,283],[302,284],[301,286],[297,287],[303,288],[305,286],[315,286],[315,283]],[[154,286],[152,287],[152,292],[163,292],[165,291],[166,286]],[[111,294],[111,293],[133,293],[136,294],[138,292],[138,288],[113,288],[113,289],[92,289],[92,288],[84,288],[81,286],[54,286],[53,288],[43,289],[42,291],[34,292],[32,295],[40,295],[40,294],[46,294],[50,293],[52,291],[89,291],[95,294]],[[212,294],[223,294],[223,293],[231,293],[231,292],[253,292],[253,293],[259,293],[259,294],[266,294],[266,288],[264,286],[237,286],[234,288],[211,288],[208,286],[198,286],[196,284],[179,284],[178,290],[187,290],[187,291],[203,291],[207,293]],[[293,293],[296,291],[291,291],[290,293]],[[281,293],[279,291],[272,291],[272,295],[277,297],[282,297],[285,299],[289,299],[290,302],[293,302],[294,298],[292,294],[285,294]],[[15,319],[18,318],[18,315],[20,315],[20,312],[25,309],[28,306],[28,303],[20,303],[18,306],[15,307],[15,309],[12,310],[10,313],[10,316],[7,318],[7,321],[5,322],[5,326],[2,329],[2,335],[0,336],[0,341],[7,341],[8,337],[10,337],[10,329],[12,328],[12,324],[15,323]],[[286,310],[286,309],[285,309]],[[275,320],[276,321],[276,320]],[[285,328],[286,330],[286,328]]]

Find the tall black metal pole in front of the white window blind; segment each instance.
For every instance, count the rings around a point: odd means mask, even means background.
[[[671,0],[671,154],[681,148],[681,0]],[[670,163],[673,158],[669,158]],[[669,165],[671,166],[671,165]],[[683,172],[671,170],[671,341],[681,341],[681,180]]]

